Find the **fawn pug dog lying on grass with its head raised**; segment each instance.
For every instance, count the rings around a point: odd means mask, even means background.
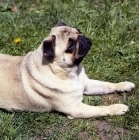
[[[123,115],[124,104],[90,106],[83,94],[129,92],[131,82],[91,80],[82,60],[92,42],[76,28],[58,23],[35,51],[25,56],[0,54],[0,108],[7,111],[51,111],[68,118]]]

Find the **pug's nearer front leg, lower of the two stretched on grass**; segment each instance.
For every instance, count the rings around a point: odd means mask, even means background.
[[[91,118],[107,115],[123,115],[128,111],[128,106],[124,104],[113,104],[109,106],[90,106],[83,103],[74,105],[67,109],[69,119]]]

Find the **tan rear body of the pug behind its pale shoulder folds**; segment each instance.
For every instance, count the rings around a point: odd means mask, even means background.
[[[0,108],[17,108],[23,101],[19,67],[23,57],[0,54]]]

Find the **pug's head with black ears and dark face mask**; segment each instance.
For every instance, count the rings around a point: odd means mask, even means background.
[[[65,67],[79,65],[91,45],[80,30],[58,23],[43,42],[43,60]]]

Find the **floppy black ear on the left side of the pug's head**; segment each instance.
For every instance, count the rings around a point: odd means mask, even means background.
[[[55,39],[56,36],[52,35],[52,40],[45,40],[43,42],[43,57],[44,60],[47,60],[48,62],[53,62],[55,57]]]

